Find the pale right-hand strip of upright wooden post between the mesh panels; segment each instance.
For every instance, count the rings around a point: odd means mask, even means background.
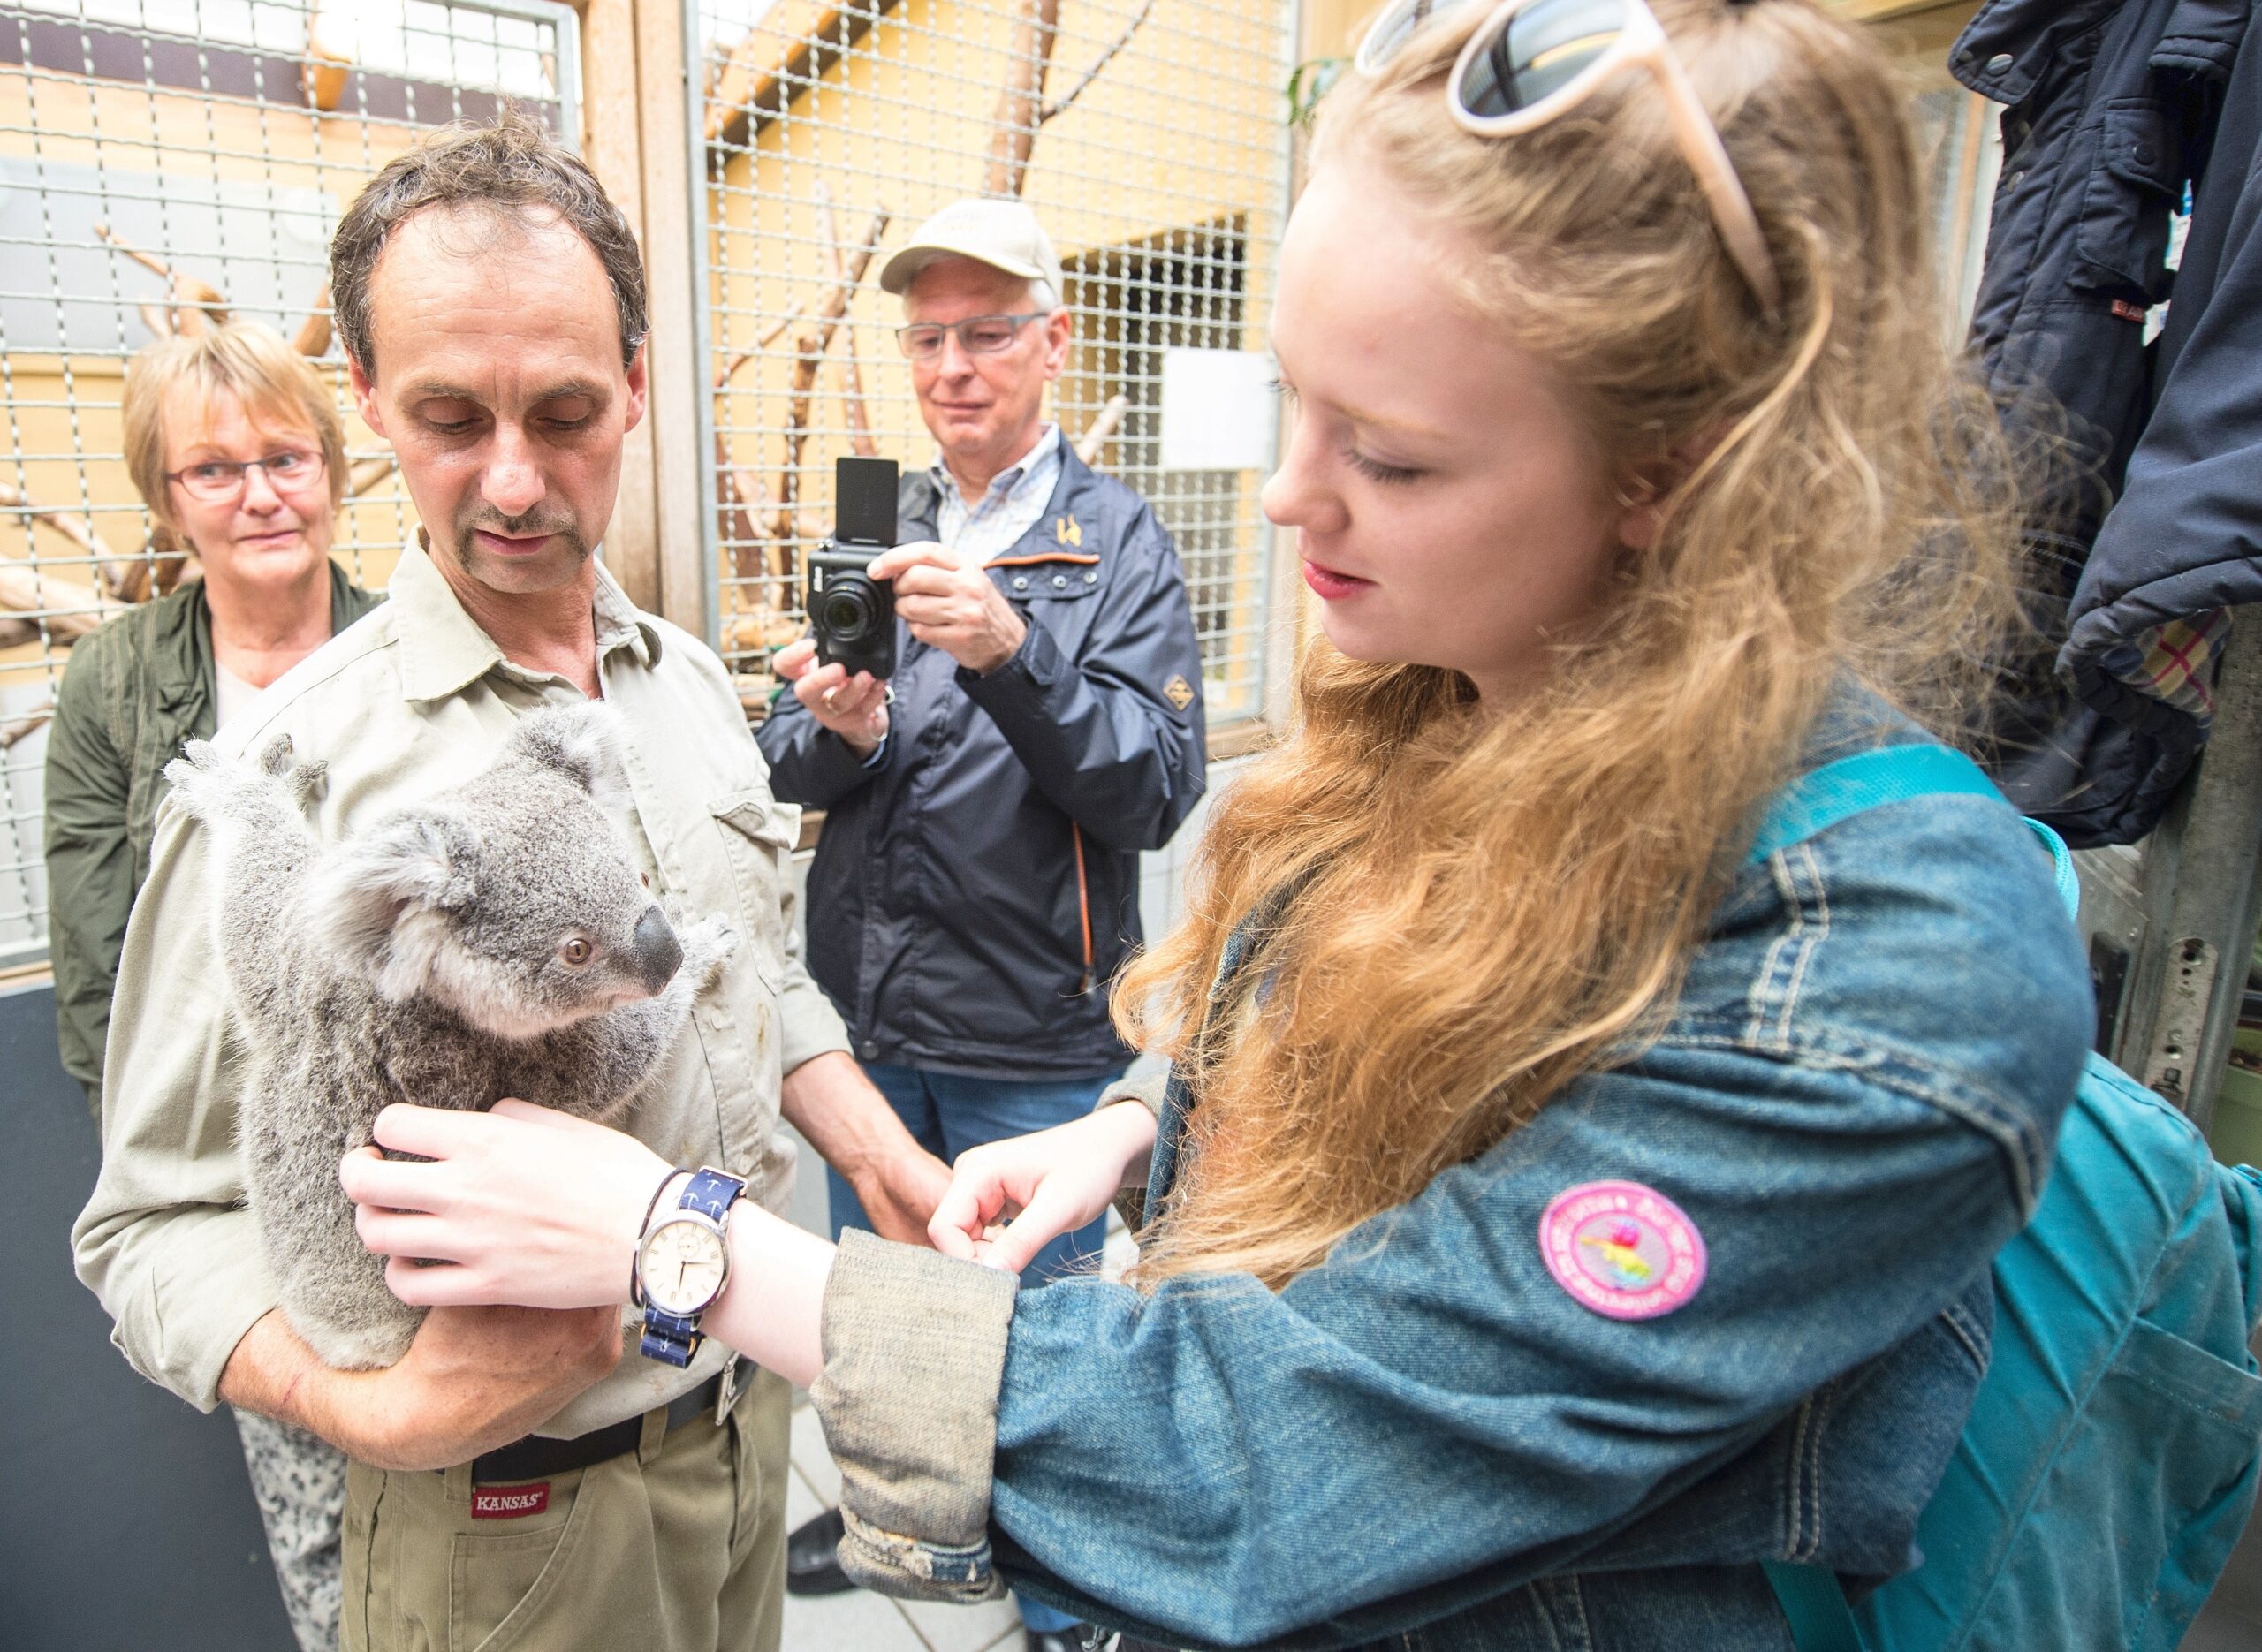
[[[701,534],[699,360],[692,294],[703,274],[692,247],[690,57],[681,0],[636,0],[636,88],[642,134],[645,274],[651,290],[651,337],[645,364],[651,401],[654,534],[658,613],[692,636],[713,636],[715,582]]]

